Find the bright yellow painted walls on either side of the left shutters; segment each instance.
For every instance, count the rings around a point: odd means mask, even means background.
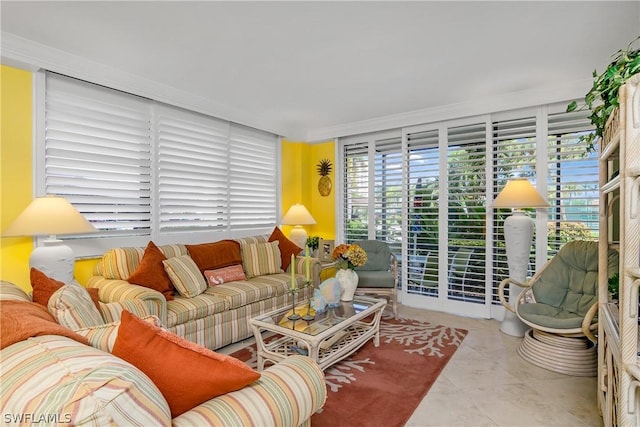
[[[32,73],[0,65],[0,230],[13,221],[33,198]],[[316,165],[321,159],[334,165],[333,189],[320,196]],[[335,155],[334,142],[282,143],[282,213],[294,203],[304,204],[317,224],[306,226],[310,236],[335,238]],[[283,227],[288,234],[288,227]],[[29,284],[31,238],[0,238],[0,279],[26,291]],[[79,260],[76,279],[86,284],[96,260]]]

